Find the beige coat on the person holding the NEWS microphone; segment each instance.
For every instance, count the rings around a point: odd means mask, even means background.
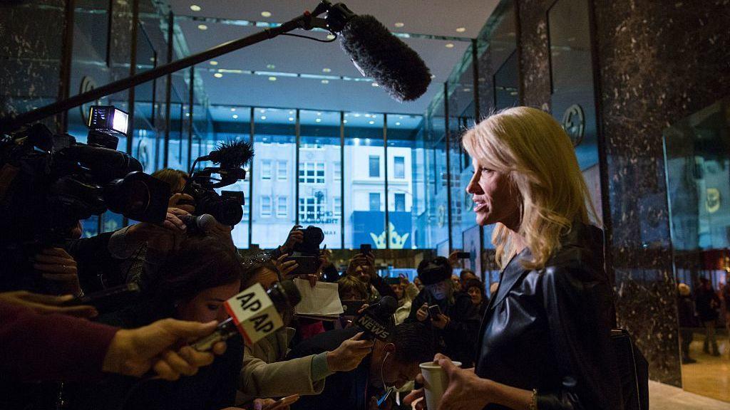
[[[236,403],[248,403],[254,398],[318,395],[322,392],[324,379],[312,382],[314,355],[285,360],[294,331],[282,328],[253,347],[245,347]]]

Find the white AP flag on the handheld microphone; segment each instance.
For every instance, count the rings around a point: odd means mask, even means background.
[[[284,325],[276,306],[260,283],[228,299],[223,306],[249,345],[264,339]]]

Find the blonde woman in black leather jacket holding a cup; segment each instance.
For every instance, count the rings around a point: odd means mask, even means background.
[[[502,274],[476,367],[434,359],[449,376],[439,409],[623,409],[602,231],[568,136],[545,112],[515,107],[467,131],[464,148],[475,169],[466,190],[477,223],[496,224]]]

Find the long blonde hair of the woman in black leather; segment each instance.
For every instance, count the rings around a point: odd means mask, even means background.
[[[598,221],[573,144],[548,113],[529,107],[505,109],[466,131],[462,142],[480,166],[507,174],[519,190],[516,234],[532,253],[532,260],[523,261],[526,268],[543,268],[574,221]],[[515,255],[513,235],[496,224],[492,243],[501,267]]]

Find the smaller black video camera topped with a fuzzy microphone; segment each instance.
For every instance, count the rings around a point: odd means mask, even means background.
[[[195,160],[190,171],[191,177],[183,187],[183,193],[193,197],[195,215],[211,214],[218,223],[223,225],[237,225],[243,218],[245,199],[242,192],[222,191],[221,195],[215,188],[227,187],[239,179],[246,179],[246,170],[243,166],[253,158],[253,149],[246,142],[222,142],[218,150]],[[193,169],[200,161],[210,160],[220,164],[218,167],[206,167],[202,171],[193,173]],[[220,179],[213,178],[218,174]]]

